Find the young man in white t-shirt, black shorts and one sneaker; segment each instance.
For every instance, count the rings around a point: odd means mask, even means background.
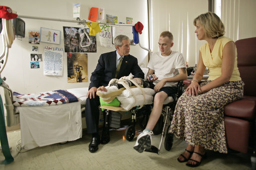
[[[171,32],[162,32],[158,44],[160,52],[154,53],[150,58],[147,73],[147,79],[153,82],[154,90],[157,92],[154,97],[154,107],[146,129],[137,137],[133,147],[140,153],[151,147],[152,130],[162,113],[164,101],[168,96],[174,97],[177,92],[177,82],[187,78],[186,62],[183,55],[171,51],[173,46]]]

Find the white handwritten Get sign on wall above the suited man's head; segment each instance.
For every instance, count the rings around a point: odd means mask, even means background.
[[[100,46],[112,47],[112,26],[99,24],[101,32],[99,33]]]

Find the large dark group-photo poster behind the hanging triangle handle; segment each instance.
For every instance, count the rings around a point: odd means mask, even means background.
[[[84,28],[77,27],[63,27],[64,32],[64,47],[66,53],[96,53],[96,36],[89,36],[91,40],[91,45],[87,47],[81,47],[80,41],[84,33]],[[89,28],[86,29],[87,34],[89,33]],[[85,36],[82,46],[88,45],[89,40]]]

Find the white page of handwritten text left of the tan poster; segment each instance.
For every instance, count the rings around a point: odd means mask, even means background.
[[[63,75],[63,48],[44,47],[44,75]]]

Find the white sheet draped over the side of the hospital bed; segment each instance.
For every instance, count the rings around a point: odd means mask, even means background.
[[[81,105],[88,88],[68,89],[79,102],[49,107],[17,107],[20,114],[21,146],[24,149],[73,141],[82,137]]]

